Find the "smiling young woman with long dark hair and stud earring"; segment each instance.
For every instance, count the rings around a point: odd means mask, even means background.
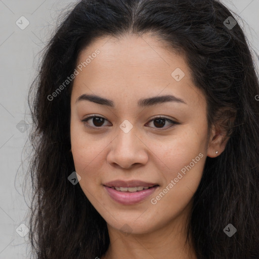
[[[30,90],[43,258],[259,258],[259,94],[212,0],[85,0]]]

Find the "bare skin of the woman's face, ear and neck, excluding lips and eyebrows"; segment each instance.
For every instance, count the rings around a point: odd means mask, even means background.
[[[74,79],[70,130],[79,185],[107,222],[110,246],[101,259],[197,258],[192,242],[185,246],[186,225],[206,157],[219,156],[226,146],[222,129],[213,127],[208,135],[205,96],[193,84],[184,57],[166,49],[161,40],[148,34],[99,38],[79,54],[77,65],[96,49],[100,54]],[[171,76],[176,68],[185,73],[180,81]],[[76,102],[83,94],[110,99],[115,107]],[[167,94],[186,104],[137,105],[139,99]],[[90,115],[106,120],[81,121]],[[152,120],[159,115],[179,124],[169,127],[171,122],[164,120],[161,128]],[[128,133],[119,127],[125,119],[133,125]],[[152,204],[151,198],[199,153],[203,157]],[[103,186],[117,179],[157,183],[159,188],[138,204],[122,205]]]

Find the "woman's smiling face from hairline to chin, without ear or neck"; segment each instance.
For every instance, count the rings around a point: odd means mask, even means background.
[[[205,97],[184,57],[152,36],[107,37],[80,53],[76,69],[71,151],[87,198],[117,231],[184,219],[208,148]]]

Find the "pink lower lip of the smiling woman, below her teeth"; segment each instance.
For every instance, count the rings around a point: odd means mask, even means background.
[[[150,196],[159,186],[152,187],[147,190],[139,192],[120,192],[110,187],[104,186],[110,197],[120,204],[132,205],[145,200]]]

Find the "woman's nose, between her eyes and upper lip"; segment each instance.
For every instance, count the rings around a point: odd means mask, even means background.
[[[134,127],[128,133],[118,129],[117,137],[110,143],[107,162],[112,166],[130,169],[148,161],[148,147],[140,139]]]

